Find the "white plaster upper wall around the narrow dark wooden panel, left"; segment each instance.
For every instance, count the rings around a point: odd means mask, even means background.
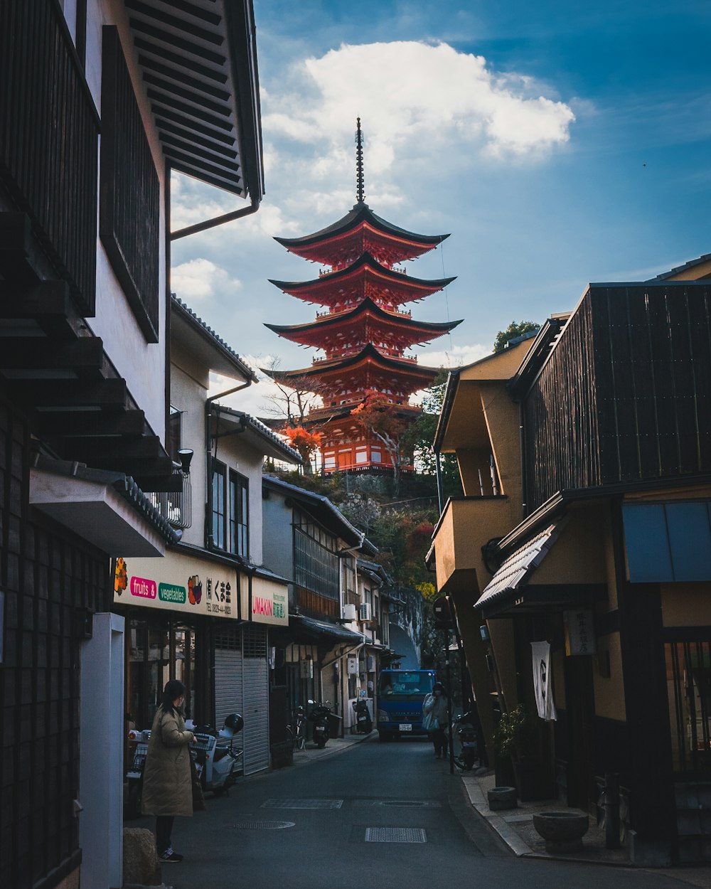
[[[67,7],[67,13],[69,9]],[[73,19],[73,15],[72,15]],[[124,296],[121,286],[108,262],[104,248],[97,236],[97,292],[96,316],[87,323],[97,336],[104,340],[107,351],[116,370],[126,380],[135,401],[146,412],[146,419],[157,436],[164,441],[165,433],[165,164],[163,152],[149,113],[148,100],[143,86],[132,47],[132,36],[124,4],[111,0],[88,0],[86,23],[86,79],[92,92],[96,108],[101,109],[101,28],[116,25],[121,36],[124,55],[132,76],[143,123],[156,164],[160,180],[160,257],[158,276],[158,318],[157,343],[147,343],[132,309]],[[74,30],[73,24],[71,26]],[[98,207],[97,207],[98,230]]]

